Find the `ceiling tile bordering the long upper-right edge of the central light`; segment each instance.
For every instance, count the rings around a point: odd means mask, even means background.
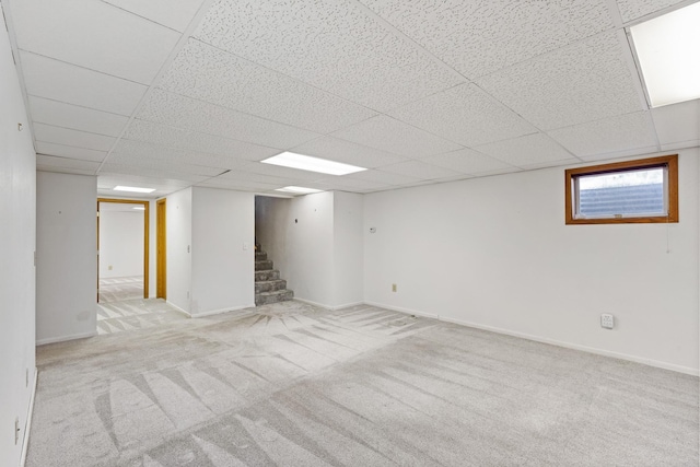
[[[352,164],[360,167],[373,168],[380,165],[396,164],[406,157],[380,151],[366,145],[355,144],[350,141],[331,137],[322,137],[292,149],[304,155],[328,159],[330,161]]]

